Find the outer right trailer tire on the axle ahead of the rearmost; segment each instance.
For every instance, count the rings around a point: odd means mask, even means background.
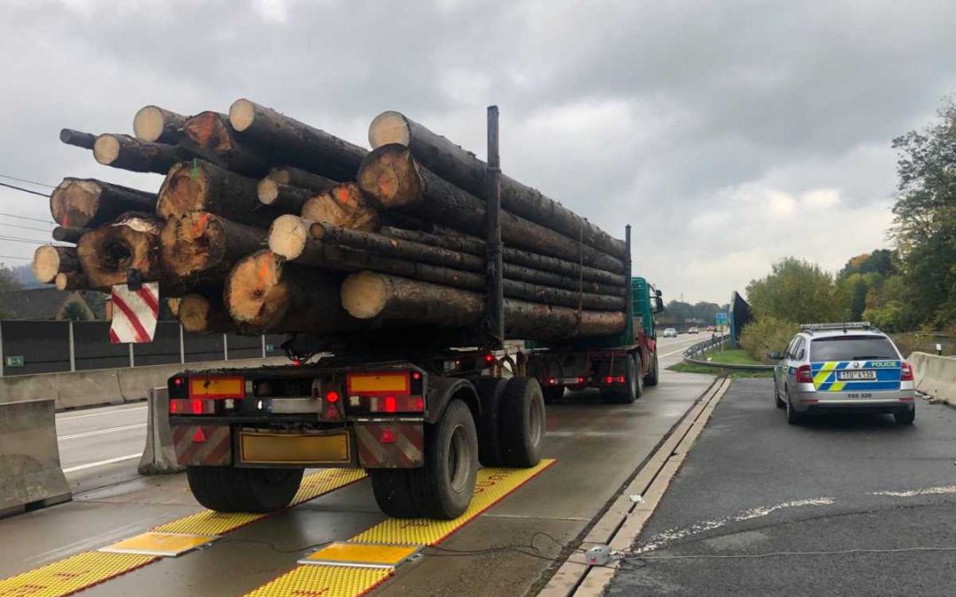
[[[502,457],[505,464],[527,468],[541,460],[545,410],[541,385],[533,377],[511,377],[502,395]]]

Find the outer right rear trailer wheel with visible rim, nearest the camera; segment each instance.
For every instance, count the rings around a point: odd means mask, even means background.
[[[425,427],[424,467],[409,482],[419,516],[450,521],[467,510],[478,475],[478,432],[471,410],[452,400],[441,420]]]

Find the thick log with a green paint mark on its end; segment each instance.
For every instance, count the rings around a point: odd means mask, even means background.
[[[182,218],[193,211],[208,211],[233,222],[269,227],[276,217],[288,213],[259,203],[258,182],[206,160],[190,160],[169,169],[156,212],[164,219]]]

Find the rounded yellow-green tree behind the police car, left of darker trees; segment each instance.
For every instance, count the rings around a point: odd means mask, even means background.
[[[756,319],[771,316],[794,323],[843,321],[845,300],[834,278],[819,266],[795,257],[773,264],[771,274],[747,285]]]

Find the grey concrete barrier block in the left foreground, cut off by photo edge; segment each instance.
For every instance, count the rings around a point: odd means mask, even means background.
[[[0,404],[0,516],[70,501],[56,447],[54,401]]]

